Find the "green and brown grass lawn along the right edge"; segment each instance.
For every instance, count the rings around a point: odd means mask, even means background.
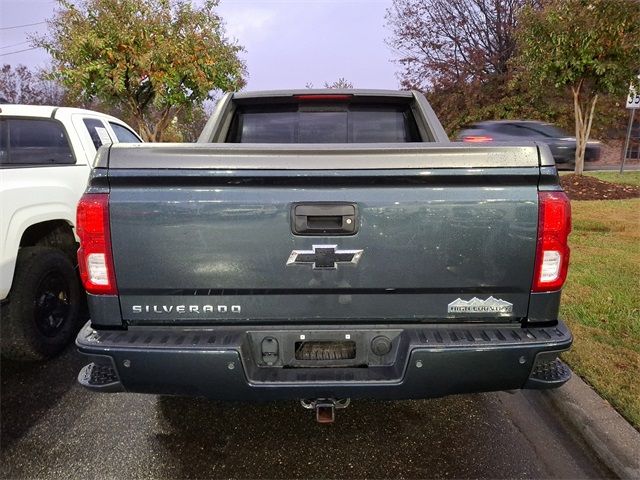
[[[640,184],[640,172],[594,174]],[[572,369],[640,428],[640,199],[573,201],[562,316]]]

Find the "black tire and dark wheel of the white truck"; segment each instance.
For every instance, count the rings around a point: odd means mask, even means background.
[[[80,328],[82,301],[67,255],[56,248],[21,248],[9,300],[0,307],[2,356],[36,361],[60,353]]]

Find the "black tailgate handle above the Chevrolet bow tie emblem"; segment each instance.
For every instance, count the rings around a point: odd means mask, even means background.
[[[296,235],[353,235],[358,231],[353,203],[296,204],[291,218],[291,229]]]

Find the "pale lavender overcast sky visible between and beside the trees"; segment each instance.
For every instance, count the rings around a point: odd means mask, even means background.
[[[397,67],[385,45],[391,0],[221,0],[227,33],[246,48],[247,89],[322,87],[344,77],[357,88],[397,88]],[[48,55],[27,50],[27,35],[44,31],[53,0],[0,0],[0,63],[42,67]],[[18,53],[12,53],[18,52]]]

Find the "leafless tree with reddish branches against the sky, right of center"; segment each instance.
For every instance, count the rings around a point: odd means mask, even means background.
[[[504,76],[516,48],[517,14],[536,0],[393,0],[388,44],[402,86],[434,87]]]

